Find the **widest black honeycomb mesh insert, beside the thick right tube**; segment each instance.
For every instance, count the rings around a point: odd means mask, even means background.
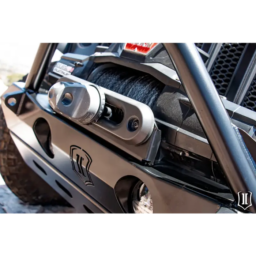
[[[210,75],[218,93],[225,95],[246,42],[223,42]]]

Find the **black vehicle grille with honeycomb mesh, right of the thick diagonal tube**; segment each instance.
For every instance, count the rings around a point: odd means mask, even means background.
[[[195,45],[208,56],[204,63],[219,95],[256,111],[256,42],[195,42]]]

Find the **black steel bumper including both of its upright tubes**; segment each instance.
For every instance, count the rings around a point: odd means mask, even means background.
[[[256,205],[254,166],[250,165],[250,159],[195,46],[171,42],[163,42],[163,45],[170,54],[234,197],[237,198],[240,190],[249,190],[253,193],[253,205]],[[87,213],[86,207],[95,213],[130,213],[127,207],[129,191],[120,192],[117,184],[131,177],[140,179],[147,185],[153,198],[154,214],[223,212],[217,201],[200,195],[198,191],[192,191],[184,183],[163,175],[152,167],[128,161],[107,148],[101,140],[91,136],[86,129],[73,127],[44,106],[43,102],[47,102],[43,99],[44,95],[34,92],[38,90],[55,48],[56,43],[41,43],[26,86],[16,83],[1,97],[7,126],[27,165],[83,213]],[[7,93],[19,95],[13,109],[5,100]],[[34,124],[38,118],[44,118],[50,126],[54,158],[45,153],[35,136]],[[90,175],[93,186],[86,186],[74,172],[70,158],[72,145],[89,153],[92,159]],[[226,213],[236,214],[237,211],[229,209],[230,204],[231,202],[226,202],[226,206],[224,205]],[[255,211],[254,207],[251,208]]]

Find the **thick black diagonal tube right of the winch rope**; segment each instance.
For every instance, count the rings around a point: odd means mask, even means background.
[[[235,200],[238,202],[239,191],[250,191],[251,211],[256,212],[255,167],[245,154],[195,45],[180,42],[162,43],[195,109],[214,155],[227,177]]]

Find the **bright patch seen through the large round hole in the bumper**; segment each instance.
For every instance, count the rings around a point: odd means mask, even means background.
[[[147,186],[139,182],[132,192],[134,214],[153,214],[153,201]]]

